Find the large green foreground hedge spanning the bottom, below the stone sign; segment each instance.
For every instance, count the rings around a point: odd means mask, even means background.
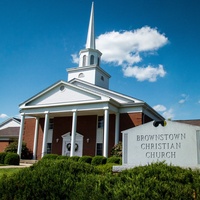
[[[109,166],[110,165],[110,166]],[[42,159],[0,179],[2,200],[198,200],[200,172],[154,163],[118,174],[70,160]]]

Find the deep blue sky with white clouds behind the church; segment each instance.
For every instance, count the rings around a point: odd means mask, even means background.
[[[84,49],[90,0],[0,0],[0,122],[59,80]],[[96,0],[110,89],[171,119],[200,118],[200,1]],[[73,56],[72,56],[73,55]]]

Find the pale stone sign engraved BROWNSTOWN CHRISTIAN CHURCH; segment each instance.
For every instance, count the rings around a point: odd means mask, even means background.
[[[147,165],[165,161],[182,167],[200,166],[200,126],[168,121],[153,122],[123,133],[123,165]]]

